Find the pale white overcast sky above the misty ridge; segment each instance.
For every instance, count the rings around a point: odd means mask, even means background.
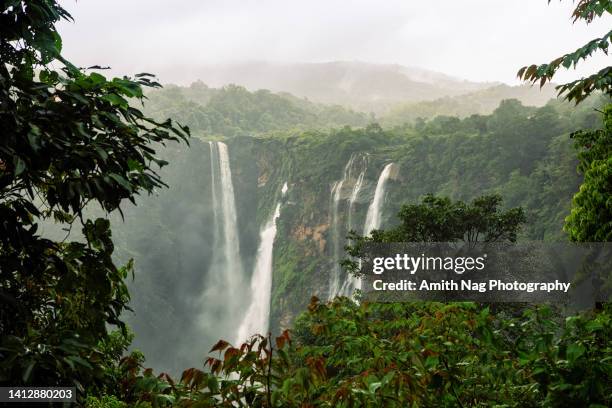
[[[358,60],[516,83],[518,68],[573,51],[612,25],[571,24],[553,0],[64,0],[64,52],[125,73],[244,61]],[[603,53],[556,82],[610,65]],[[164,78],[190,83],[197,78]]]

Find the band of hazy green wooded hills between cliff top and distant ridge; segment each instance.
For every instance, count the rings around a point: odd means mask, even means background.
[[[467,92],[467,90],[466,90]],[[169,85],[148,94],[146,110],[158,119],[174,117],[194,134],[232,137],[254,136],[274,131],[304,131],[334,127],[363,127],[379,122],[384,127],[401,126],[436,116],[464,118],[490,114],[504,99],[517,99],[526,106],[543,106],[554,99],[552,86],[542,89],[495,85],[454,97],[434,99],[429,94],[413,103],[391,103],[379,113],[362,113],[342,105],[314,103],[288,92],[248,91],[238,85],[211,88],[198,81],[190,86]]]

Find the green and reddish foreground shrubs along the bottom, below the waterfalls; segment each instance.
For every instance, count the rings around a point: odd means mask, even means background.
[[[105,398],[123,406],[606,407],[610,336],[609,309],[564,319],[547,307],[512,317],[474,303],[313,298],[291,336],[219,341],[205,370],[179,380],[124,358],[124,387]],[[115,406],[103,402],[89,406]]]

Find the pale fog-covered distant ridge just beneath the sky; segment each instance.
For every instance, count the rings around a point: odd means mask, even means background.
[[[173,78],[177,73],[164,77]],[[185,76],[198,78],[212,87],[238,84],[251,91],[289,92],[315,102],[376,113],[398,102],[431,101],[499,85],[461,80],[421,68],[356,61],[245,62],[192,67]]]

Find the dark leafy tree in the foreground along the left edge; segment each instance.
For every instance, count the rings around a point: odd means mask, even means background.
[[[60,19],[56,1],[0,3],[0,384],[83,391],[105,381],[98,344],[124,327],[132,270],[113,262],[110,222],[84,209],[163,186],[153,145],[189,131],[130,104],[159,87],[150,74],[108,80],[64,59]],[[80,224],[83,239],[43,237],[44,220]]]

